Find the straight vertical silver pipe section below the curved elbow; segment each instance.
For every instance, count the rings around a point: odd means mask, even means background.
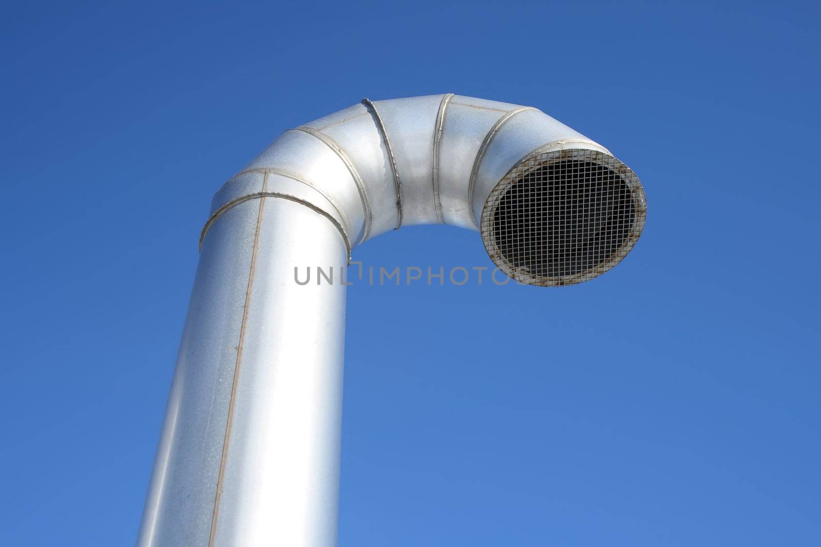
[[[287,198],[213,221],[140,547],[335,545],[346,262],[337,226]]]

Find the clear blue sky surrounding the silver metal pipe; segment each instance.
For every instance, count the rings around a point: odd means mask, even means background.
[[[599,140],[648,222],[570,288],[351,287],[340,545],[821,545],[821,12],[715,4],[4,2],[0,545],[133,544],[219,185],[446,92]]]

